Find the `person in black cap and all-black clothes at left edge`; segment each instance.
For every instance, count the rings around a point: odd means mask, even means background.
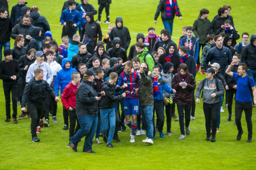
[[[6,99],[6,120],[10,122],[11,119],[11,101],[12,101],[12,119],[17,123],[17,93],[18,93],[18,79],[20,71],[17,62],[12,60],[11,49],[4,51],[4,60],[0,62],[0,79],[3,80],[3,89]],[[10,97],[11,95],[11,97]]]

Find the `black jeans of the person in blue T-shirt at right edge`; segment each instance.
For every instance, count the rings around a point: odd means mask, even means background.
[[[240,102],[235,101],[235,123],[238,132],[242,132],[242,126],[241,126],[241,117],[242,112],[245,111],[245,120],[247,123],[247,129],[248,129],[248,138],[252,137],[252,122],[251,122],[251,115],[252,115],[252,102]]]

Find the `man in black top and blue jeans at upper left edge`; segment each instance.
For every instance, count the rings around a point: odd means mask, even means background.
[[[10,48],[12,24],[8,17],[8,11],[5,8],[0,9],[0,61],[2,61],[2,49]]]

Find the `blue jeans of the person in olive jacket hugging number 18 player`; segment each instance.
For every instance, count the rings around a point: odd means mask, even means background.
[[[142,114],[142,121],[145,124],[146,131],[147,131],[147,137],[153,140],[153,108],[154,105],[151,106],[140,106],[140,111]]]

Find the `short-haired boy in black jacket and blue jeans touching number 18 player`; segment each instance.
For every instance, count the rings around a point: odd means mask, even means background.
[[[118,112],[115,112],[115,102],[121,101],[126,96],[125,92],[122,93],[122,95],[115,96],[115,90],[121,90],[120,86],[116,87],[115,85],[117,78],[117,73],[112,72],[109,75],[109,80],[103,82],[102,90],[105,91],[106,95],[102,96],[99,104],[103,140],[107,143],[106,146],[110,148],[114,148],[111,142],[115,132],[116,123],[119,124]],[[106,137],[107,130],[109,130],[108,138]]]

